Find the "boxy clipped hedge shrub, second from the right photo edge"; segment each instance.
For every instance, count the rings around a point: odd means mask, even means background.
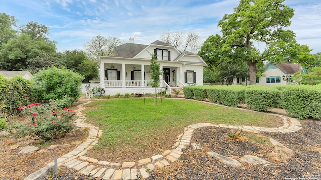
[[[281,92],[276,88],[252,85],[245,91],[245,103],[248,108],[255,111],[279,107]]]

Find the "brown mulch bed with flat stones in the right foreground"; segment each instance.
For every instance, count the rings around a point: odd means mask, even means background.
[[[274,147],[258,137],[254,142],[233,143],[225,136],[230,129],[201,128],[193,133],[191,143],[200,143],[203,150],[194,151],[190,145],[181,158],[164,169],[155,171],[149,179],[285,179],[306,175],[321,179],[321,122],[301,120],[302,129],[294,133],[261,133],[271,137],[295,152],[295,158],[284,164],[268,167],[242,163],[229,167],[207,155],[208,151],[239,160],[245,154],[266,160]],[[249,134],[243,133],[244,136]],[[266,141],[265,141],[266,142]]]

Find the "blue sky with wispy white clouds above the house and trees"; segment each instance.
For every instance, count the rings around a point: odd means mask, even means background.
[[[125,43],[150,44],[164,32],[196,32],[203,43],[221,34],[217,22],[233,12],[239,0],[1,0],[0,12],[15,16],[18,25],[36,21],[50,27],[58,51],[84,49],[99,34]],[[285,0],[295,10],[289,29],[312,53],[321,52],[321,1]]]

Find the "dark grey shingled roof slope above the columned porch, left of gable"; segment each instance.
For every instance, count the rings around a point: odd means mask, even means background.
[[[125,43],[114,48],[114,57],[133,58],[148,45]]]

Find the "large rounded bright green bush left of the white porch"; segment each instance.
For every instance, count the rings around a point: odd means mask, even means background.
[[[38,100],[46,103],[51,99],[63,99],[65,96],[71,97],[71,102],[76,102],[81,95],[83,79],[82,75],[65,67],[40,70],[32,79],[33,93]]]

